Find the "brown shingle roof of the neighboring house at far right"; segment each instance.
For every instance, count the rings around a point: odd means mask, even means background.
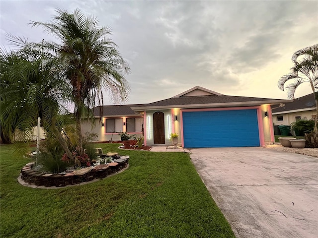
[[[314,98],[314,95],[311,93],[306,96],[296,98],[291,103],[285,103],[284,107],[276,108],[277,106],[272,106],[272,113],[287,112],[287,111],[300,110],[300,109],[310,109],[310,108],[314,108],[315,106],[316,106],[315,98]]]

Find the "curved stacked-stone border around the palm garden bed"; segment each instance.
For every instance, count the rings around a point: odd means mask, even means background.
[[[67,174],[43,174],[32,169],[35,165],[35,163],[32,162],[26,164],[21,169],[20,177],[21,180],[27,184],[35,184],[36,186],[44,187],[64,187],[67,185],[75,185],[83,182],[92,181],[94,179],[102,179],[115,173],[121,172],[122,170],[127,168],[128,161],[129,156],[121,156],[112,163],[106,165],[98,165],[95,167],[91,166]]]

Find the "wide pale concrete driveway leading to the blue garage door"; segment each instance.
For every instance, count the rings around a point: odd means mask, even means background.
[[[192,149],[237,238],[318,237],[318,158],[262,147]]]

